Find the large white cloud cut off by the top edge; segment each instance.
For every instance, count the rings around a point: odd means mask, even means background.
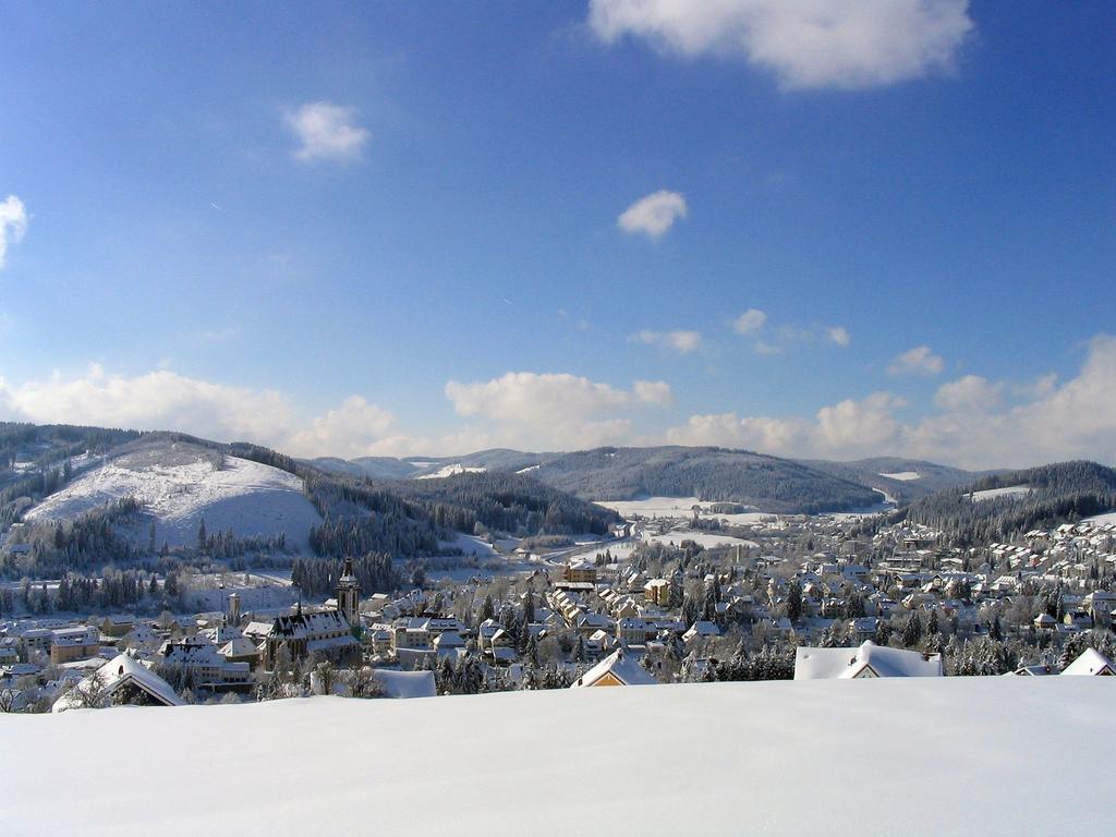
[[[856,89],[950,71],[973,30],[968,0],[589,0],[604,42],[742,58],[786,88]]]

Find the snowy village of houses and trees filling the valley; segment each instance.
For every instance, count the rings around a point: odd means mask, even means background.
[[[405,593],[362,590],[347,560],[320,603],[294,590],[290,605],[246,609],[233,587],[220,612],[155,619],[6,614],[0,710],[1116,673],[1105,518],[960,548],[875,516],[740,523],[695,507],[636,514],[616,536],[561,562],[527,556],[529,571]]]

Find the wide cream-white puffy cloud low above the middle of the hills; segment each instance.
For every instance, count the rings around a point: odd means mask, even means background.
[[[631,391],[586,377],[509,372],[485,382],[445,385],[459,415],[492,422],[502,444],[573,450],[631,439],[632,421],[623,413],[639,405],[670,402],[670,385],[636,382]]]

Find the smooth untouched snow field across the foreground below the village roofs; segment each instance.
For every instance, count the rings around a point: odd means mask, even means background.
[[[10,837],[1104,834],[1107,771],[1049,766],[1108,763],[1114,689],[715,683],[0,715],[0,810]]]

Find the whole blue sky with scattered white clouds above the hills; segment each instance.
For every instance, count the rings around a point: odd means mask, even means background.
[[[1114,19],[0,2],[0,417],[1116,462]]]

